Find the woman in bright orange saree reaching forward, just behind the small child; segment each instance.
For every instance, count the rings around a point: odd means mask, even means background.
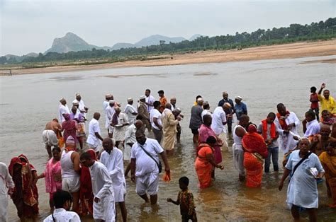
[[[223,165],[215,163],[213,157],[213,146],[217,143],[214,136],[209,136],[206,143],[198,145],[197,157],[195,161],[195,169],[198,177],[198,187],[204,189],[211,185],[211,173],[213,168],[224,169]]]

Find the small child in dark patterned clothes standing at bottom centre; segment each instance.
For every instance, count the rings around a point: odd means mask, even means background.
[[[188,177],[179,178],[179,188],[181,191],[177,195],[177,201],[173,201],[171,198],[167,198],[168,202],[175,205],[179,205],[181,211],[182,222],[184,221],[197,221],[194,196],[188,189],[189,179]]]

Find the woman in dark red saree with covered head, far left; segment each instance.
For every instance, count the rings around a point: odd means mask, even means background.
[[[23,221],[25,218],[33,218],[38,214],[38,197],[33,191],[36,185],[33,185],[30,164],[22,161],[21,158],[12,158],[9,164],[9,174],[15,184],[11,199],[18,211],[18,217]]]

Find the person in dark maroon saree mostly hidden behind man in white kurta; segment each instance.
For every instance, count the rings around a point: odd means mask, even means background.
[[[97,160],[96,152],[93,149],[86,151],[93,160]],[[93,215],[94,194],[92,193],[90,170],[84,164],[81,170],[81,188],[79,189],[79,199],[81,201],[82,215]]]

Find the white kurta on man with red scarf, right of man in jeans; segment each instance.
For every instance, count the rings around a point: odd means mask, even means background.
[[[287,125],[295,123],[295,127],[291,128],[292,134],[284,134],[284,129],[281,128],[279,119],[277,117],[275,118],[274,123],[276,125],[277,131],[279,132],[279,148],[281,148],[284,153],[288,153],[290,150],[296,148],[296,144],[298,144],[298,142],[293,139],[293,134],[298,135],[296,128],[300,125],[300,120],[298,117],[296,117],[294,112],[289,112],[289,116],[285,121]]]

